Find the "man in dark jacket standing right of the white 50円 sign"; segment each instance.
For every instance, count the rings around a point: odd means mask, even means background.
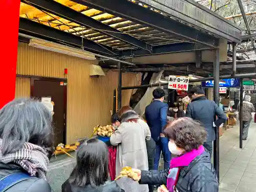
[[[207,132],[204,147],[208,150],[211,157],[212,141],[216,139],[215,130],[219,129],[219,126],[226,122],[227,116],[214,101],[209,101],[205,97],[202,87],[197,86],[188,90],[188,96],[192,101],[187,105],[186,117],[203,123],[205,131]],[[215,121],[216,116],[218,119]]]

